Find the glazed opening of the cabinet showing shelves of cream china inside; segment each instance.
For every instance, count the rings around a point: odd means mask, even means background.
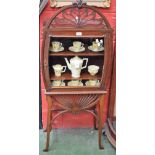
[[[51,89],[102,86],[104,37],[50,36],[48,47]]]

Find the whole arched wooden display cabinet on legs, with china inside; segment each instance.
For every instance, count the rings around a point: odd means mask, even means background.
[[[111,74],[112,33],[105,16],[86,4],[65,6],[47,22],[41,55],[48,102],[44,151],[48,151],[53,121],[66,112],[84,111],[96,119],[99,148],[103,149],[103,104]],[[52,114],[53,104],[60,107],[56,115]]]

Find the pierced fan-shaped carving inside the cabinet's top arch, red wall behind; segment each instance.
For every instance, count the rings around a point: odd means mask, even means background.
[[[87,7],[67,8],[60,12],[51,23],[51,27],[54,28],[75,28],[86,26],[87,28],[107,28],[103,18],[96,11]]]

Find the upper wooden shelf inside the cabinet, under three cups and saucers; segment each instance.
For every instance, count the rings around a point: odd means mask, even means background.
[[[104,52],[92,52],[92,51],[84,51],[84,52],[71,52],[71,51],[62,51],[62,52],[51,52],[49,56],[103,56]]]

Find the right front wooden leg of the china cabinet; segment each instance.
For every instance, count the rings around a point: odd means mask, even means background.
[[[99,103],[99,125],[98,125],[98,143],[99,148],[104,149],[103,143],[102,143],[102,123],[103,123],[103,103],[104,102],[104,96],[101,96],[100,103]]]

